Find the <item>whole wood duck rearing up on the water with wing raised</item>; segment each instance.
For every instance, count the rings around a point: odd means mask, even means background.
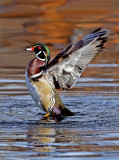
[[[26,69],[28,90],[44,117],[74,115],[63,104],[56,89],[70,89],[80,77],[86,65],[103,50],[107,37],[101,28],[91,32],[78,42],[69,45],[51,62],[46,45],[37,43],[26,51],[35,52],[36,57]]]

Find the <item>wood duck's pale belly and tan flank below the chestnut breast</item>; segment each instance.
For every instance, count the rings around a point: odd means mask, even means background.
[[[27,88],[41,110],[48,112],[48,108],[52,107],[54,99],[53,89],[49,82],[43,77],[39,81],[30,80],[26,70],[26,84]],[[45,106],[45,107],[44,107]]]

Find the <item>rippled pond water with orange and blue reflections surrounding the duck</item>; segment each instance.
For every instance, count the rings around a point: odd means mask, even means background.
[[[45,43],[54,58],[102,26],[104,52],[69,91],[60,91],[75,115],[42,120],[25,85],[34,57],[24,49]],[[119,1],[0,1],[0,160],[119,159]]]

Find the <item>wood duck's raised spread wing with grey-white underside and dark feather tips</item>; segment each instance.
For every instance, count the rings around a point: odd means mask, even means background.
[[[49,63],[46,75],[54,83],[56,89],[71,88],[86,65],[102,51],[107,37],[104,37],[106,31],[100,31],[100,29],[71,44]]]

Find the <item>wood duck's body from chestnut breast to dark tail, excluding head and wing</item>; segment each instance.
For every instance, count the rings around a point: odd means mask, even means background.
[[[51,77],[46,75],[39,77],[37,80],[31,79],[33,75],[42,72],[42,70],[40,71],[42,65],[44,65],[44,63],[35,58],[29,63],[26,69],[26,85],[31,97],[40,109],[46,113],[52,113],[53,115],[62,114],[63,116],[73,115],[73,113],[64,106],[54,84],[50,81]],[[65,112],[63,112],[64,110]]]

